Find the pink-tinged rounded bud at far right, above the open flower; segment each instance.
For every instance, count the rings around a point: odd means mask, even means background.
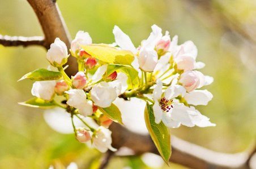
[[[181,74],[179,81],[187,92],[204,85],[204,75],[198,71],[188,71]]]

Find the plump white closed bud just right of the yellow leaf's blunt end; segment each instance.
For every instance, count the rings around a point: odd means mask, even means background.
[[[158,56],[155,50],[147,48],[139,52],[139,68],[145,72],[153,72],[157,64]]]

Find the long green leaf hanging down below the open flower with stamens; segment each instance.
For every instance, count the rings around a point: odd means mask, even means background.
[[[166,127],[163,122],[159,124],[155,123],[153,106],[148,103],[145,108],[144,117],[148,132],[150,132],[150,136],[157,150],[169,166],[170,154],[172,154],[172,148],[170,146],[170,128]]]

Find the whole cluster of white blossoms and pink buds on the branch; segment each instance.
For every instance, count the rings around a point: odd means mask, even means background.
[[[191,106],[208,104],[212,94],[198,88],[213,81],[212,77],[195,70],[203,68],[204,64],[195,61],[197,47],[193,42],[177,45],[177,35],[171,41],[168,32],[163,35],[156,25],[138,48],[118,26],[114,27],[113,33],[116,42],[111,45],[92,44],[87,32],[76,34],[70,52],[78,59],[78,73],[71,78],[62,67],[69,57],[67,47],[56,38],[46,59],[61,76],[51,70],[48,75],[37,71],[41,79],[36,80],[32,87],[32,95],[41,99],[40,105],[59,106],[71,114],[71,119],[76,116],[86,124],[84,128],[75,127],[72,121],[75,137],[80,143],[91,140],[101,152],[116,150],[111,146],[108,127],[113,121],[122,123],[121,113],[113,104],[117,97],[125,100],[137,97],[150,103],[155,123],[163,122],[169,128],[181,124],[215,126]],[[51,76],[50,73],[57,75]],[[24,78],[35,80],[33,72],[31,74]],[[56,103],[56,95],[63,96],[65,103]],[[39,105],[37,101],[28,101],[28,104]],[[85,117],[92,118],[98,127],[86,123]]]

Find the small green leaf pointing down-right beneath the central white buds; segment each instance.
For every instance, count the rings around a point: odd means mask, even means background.
[[[106,117],[112,119],[112,121],[123,124],[121,112],[113,103],[108,108],[98,108],[104,115],[106,115]]]

